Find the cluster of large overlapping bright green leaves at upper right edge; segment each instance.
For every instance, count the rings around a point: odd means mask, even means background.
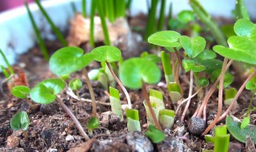
[[[226,58],[256,64],[256,25],[246,19],[234,23],[234,32],[238,36],[230,37],[229,48],[214,46],[214,51]]]

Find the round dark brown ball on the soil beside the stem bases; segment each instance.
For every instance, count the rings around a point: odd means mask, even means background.
[[[206,121],[202,118],[192,117],[188,122],[188,129],[191,134],[202,134],[202,132],[206,130]]]

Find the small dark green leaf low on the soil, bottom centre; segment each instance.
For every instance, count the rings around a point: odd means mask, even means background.
[[[150,138],[154,143],[162,142],[166,138],[166,135],[153,125],[150,125],[148,127],[148,130],[145,132],[145,135],[146,137]]]

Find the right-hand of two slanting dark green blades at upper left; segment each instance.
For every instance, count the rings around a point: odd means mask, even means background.
[[[36,4],[38,5],[39,10],[42,12],[43,16],[46,18],[47,22],[49,22],[52,30],[56,34],[58,40],[62,43],[62,46],[67,46],[67,42],[62,35],[62,33],[58,30],[58,27],[54,25],[54,22],[50,19],[50,16],[46,13],[46,10],[42,7],[39,0],[34,0]]]

